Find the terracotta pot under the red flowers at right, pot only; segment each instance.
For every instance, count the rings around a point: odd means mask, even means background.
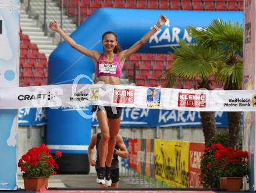
[[[220,177],[219,185],[220,188],[227,191],[240,191],[242,184],[241,177]]]

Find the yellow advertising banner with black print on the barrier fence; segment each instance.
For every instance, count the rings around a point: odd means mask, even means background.
[[[155,140],[155,178],[179,188],[189,187],[189,142]]]

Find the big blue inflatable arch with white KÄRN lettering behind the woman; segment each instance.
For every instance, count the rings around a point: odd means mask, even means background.
[[[154,26],[161,14],[168,17],[168,22],[138,52],[168,53],[169,46],[177,45],[179,40],[191,41],[185,30],[187,26],[204,27],[216,18],[243,23],[243,12],[101,8],[70,37],[88,49],[102,52],[102,34],[114,31],[119,44],[127,49]],[[49,84],[72,84],[79,74],[91,77],[95,67],[93,60],[62,42],[49,57],[48,70]],[[83,78],[79,83],[91,82]],[[83,108],[90,114],[90,107]],[[64,153],[87,153],[90,133],[91,119],[84,119],[76,109],[47,110],[47,144],[51,149],[65,149]]]

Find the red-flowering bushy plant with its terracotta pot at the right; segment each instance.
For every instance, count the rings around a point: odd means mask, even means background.
[[[213,144],[205,149],[201,159],[201,171],[205,187],[239,191],[241,178],[249,172],[248,152]],[[230,183],[230,180],[233,182]]]

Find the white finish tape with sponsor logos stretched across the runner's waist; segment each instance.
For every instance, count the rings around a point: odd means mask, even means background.
[[[250,112],[256,110],[256,91],[184,90],[109,84],[0,88],[0,109],[81,105]]]

